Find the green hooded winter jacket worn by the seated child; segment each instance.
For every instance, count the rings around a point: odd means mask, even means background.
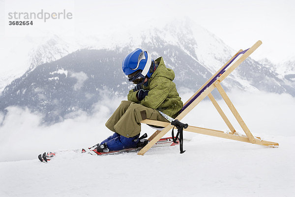
[[[148,79],[148,86],[143,86],[143,89],[149,90],[148,96],[142,101],[139,101],[136,98],[138,91],[134,92],[130,90],[128,100],[146,107],[158,109],[168,116],[175,118],[182,108],[183,103],[173,82],[175,78],[174,71],[165,66],[162,57],[156,59],[155,62],[159,63],[159,66]]]

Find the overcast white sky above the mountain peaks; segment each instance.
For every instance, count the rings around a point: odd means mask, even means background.
[[[22,36],[103,34],[124,31],[130,25],[161,26],[172,18],[189,17],[236,50],[262,40],[263,45],[253,54],[257,60],[266,57],[277,62],[295,56],[294,0],[0,0],[0,3],[1,51]],[[7,25],[8,12],[41,9],[48,12],[66,9],[73,13],[73,20],[37,21],[34,27],[22,29]]]

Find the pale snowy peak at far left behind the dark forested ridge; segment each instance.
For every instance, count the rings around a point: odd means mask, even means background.
[[[66,42],[57,35],[34,38],[27,36],[21,42],[11,45],[12,48],[1,59],[4,66],[0,67],[0,92],[25,72],[58,60],[79,48],[74,42]]]

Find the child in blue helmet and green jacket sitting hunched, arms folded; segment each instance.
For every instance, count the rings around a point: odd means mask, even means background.
[[[154,61],[147,51],[136,49],[125,57],[122,69],[128,81],[137,85],[107,121],[106,127],[115,133],[98,144],[98,152],[137,147],[142,120],[167,122],[157,110],[175,118],[182,108],[174,71],[165,66],[162,57]]]

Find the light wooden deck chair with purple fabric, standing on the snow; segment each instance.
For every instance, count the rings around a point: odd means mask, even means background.
[[[262,41],[258,40],[251,48],[246,50],[239,50],[224,66],[222,66],[208,81],[190,98],[188,99],[184,105],[182,110],[180,111],[180,114],[176,117],[179,121],[185,117],[201,100],[208,97],[214,107],[217,109],[218,113],[228,126],[230,132],[224,132],[224,131],[218,131],[218,130],[212,130],[212,129],[206,129],[206,128],[200,128],[200,127],[194,127],[194,126],[188,126],[187,129],[184,129],[184,131],[191,131],[216,137],[222,137],[227,139],[233,139],[237,141],[243,141],[253,144],[259,144],[259,145],[265,145],[270,147],[277,147],[279,144],[276,142],[270,142],[262,140],[260,137],[254,137],[246,124],[244,123],[243,119],[239,115],[239,113],[236,110],[236,107],[232,103],[232,101],[229,99],[227,94],[225,93],[224,89],[221,86],[221,82],[234,70],[237,66],[239,66],[250,54],[252,54],[260,45],[262,44]],[[237,57],[239,57],[237,59]],[[236,60],[237,59],[237,60]],[[235,61],[236,60],[236,61]],[[218,105],[217,101],[212,96],[211,92],[213,89],[217,89],[217,91],[220,93],[222,99],[226,102],[228,107],[230,108],[231,112],[235,116],[237,122],[239,123],[242,130],[245,132],[246,135],[240,135],[236,134],[236,130],[234,129],[233,125],[227,118],[227,116],[224,114],[220,106]],[[142,148],[138,155],[144,155],[150,147],[152,147],[161,137],[163,137],[168,131],[170,131],[173,126],[170,123],[162,122],[162,121],[155,121],[155,120],[143,120],[141,123],[145,123],[148,125],[154,125],[159,127],[164,127],[162,131],[156,131],[153,133],[149,140],[150,142]]]

